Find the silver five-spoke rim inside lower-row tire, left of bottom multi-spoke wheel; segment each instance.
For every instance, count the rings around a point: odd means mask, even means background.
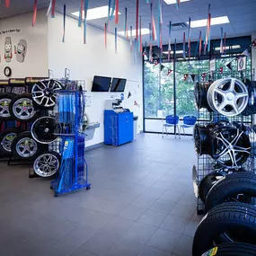
[[[23,158],[33,156],[37,150],[38,145],[31,137],[23,137],[16,144],[16,152]]]

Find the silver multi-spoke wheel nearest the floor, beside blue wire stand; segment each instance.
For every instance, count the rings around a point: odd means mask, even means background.
[[[44,158],[46,157],[51,157],[51,158],[48,158],[48,162],[46,163]],[[49,165],[49,159],[51,161],[51,164],[53,163],[53,161],[56,161],[56,167],[57,168],[54,168],[53,164],[50,166]],[[43,161],[43,164],[44,166],[47,164],[49,166],[49,169],[48,170],[44,170],[42,167],[42,162],[40,161]],[[33,164],[33,169],[34,169],[34,172],[37,173],[37,175],[39,175],[40,177],[42,178],[49,178],[49,177],[52,177],[54,175],[56,175],[56,173],[58,172],[59,168],[60,168],[60,164],[61,164],[61,157],[60,157],[60,154],[57,154],[56,152],[45,152],[43,154],[40,154],[34,161],[34,164]],[[46,172],[48,171],[48,172]]]

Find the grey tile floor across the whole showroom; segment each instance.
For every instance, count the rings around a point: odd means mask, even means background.
[[[87,162],[92,190],[58,198],[28,167],[0,163],[1,256],[191,255],[191,137],[144,134]]]

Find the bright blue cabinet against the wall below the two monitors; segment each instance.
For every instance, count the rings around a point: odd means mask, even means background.
[[[133,112],[104,110],[104,144],[120,146],[133,141]]]

